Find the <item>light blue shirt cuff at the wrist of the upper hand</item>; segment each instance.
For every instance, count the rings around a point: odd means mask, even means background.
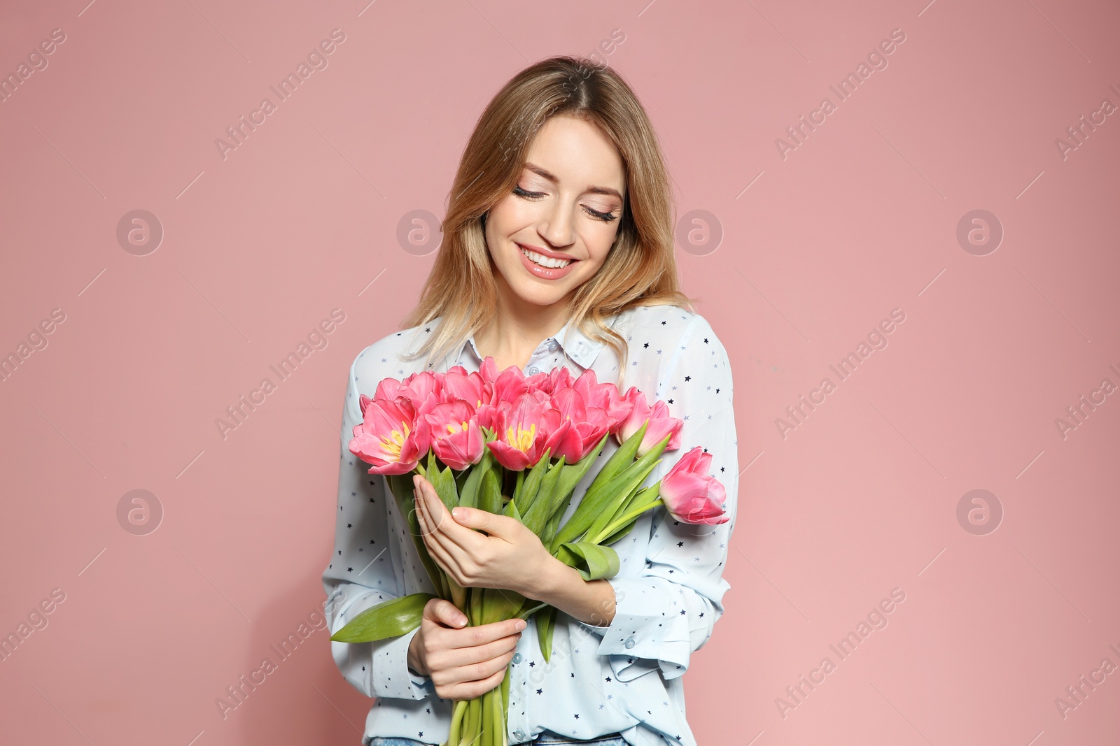
[[[610,624],[576,621],[603,638],[598,653],[608,657],[615,678],[629,681],[659,668],[665,679],[683,674],[692,643],[681,589],[671,580],[652,576],[612,577],[607,582],[615,589]]]

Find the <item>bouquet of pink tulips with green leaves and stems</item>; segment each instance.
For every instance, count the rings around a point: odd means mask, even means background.
[[[363,422],[354,426],[349,450],[371,464],[368,473],[385,475],[438,596],[451,601],[470,625],[534,616],[545,661],[559,610],[508,589],[459,587],[428,553],[408,502],[412,474],[431,482],[449,511],[465,506],[520,520],[585,580],[618,572],[609,545],[646,510],[665,506],[688,523],[728,520],[724,485],[707,473],[711,454],[700,446],[661,481],[642,487],[662,452],[680,447],[683,421],[670,417],[663,402],[651,406],[635,387],[623,395],[614,384],[599,384],[594,370],[576,379],[568,368],[526,377],[511,366],[498,374],[487,357],[479,372],[455,366],[446,374],[385,378],[373,398],[363,394],[360,404]],[[612,436],[618,450],[561,526],[576,485]],[[413,593],[372,606],[330,639],[370,642],[405,634],[420,625],[432,597]],[[507,671],[498,687],[457,701],[444,746],[507,746],[508,697]]]

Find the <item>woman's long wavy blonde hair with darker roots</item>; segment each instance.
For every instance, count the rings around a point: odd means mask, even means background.
[[[561,114],[597,126],[617,148],[626,174],[615,244],[598,272],[576,290],[572,325],[614,349],[622,385],[628,350],[609,321],[638,305],[693,310],[693,299],[680,290],[672,192],[650,117],[615,70],[582,57],[551,57],[517,73],[478,117],[448,197],[444,240],[402,329],[441,320],[407,359],[444,358],[497,313],[485,216],[516,185],[533,135]]]

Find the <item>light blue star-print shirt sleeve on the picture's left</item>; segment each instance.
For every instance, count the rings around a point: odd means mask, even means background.
[[[385,489],[385,478],[367,473],[368,464],[347,447],[354,425],[362,421],[357,366],[355,359],[343,404],[335,550],[323,574],[330,634],[366,608],[400,597],[402,585],[390,551],[386,498],[392,495]],[[376,381],[367,384],[375,386]],[[417,632],[419,627],[376,642],[332,642],[330,654],[343,677],[366,697],[423,699],[435,692],[435,684],[430,677],[413,673],[408,667],[409,643]]]

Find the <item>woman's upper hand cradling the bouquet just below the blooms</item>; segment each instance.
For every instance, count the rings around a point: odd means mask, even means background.
[[[540,537],[511,516],[456,508],[455,512],[463,514],[455,517],[431,482],[417,474],[412,483],[428,553],[451,579],[464,588],[506,588],[526,598],[539,598],[534,594],[541,580],[560,561],[549,554]]]

